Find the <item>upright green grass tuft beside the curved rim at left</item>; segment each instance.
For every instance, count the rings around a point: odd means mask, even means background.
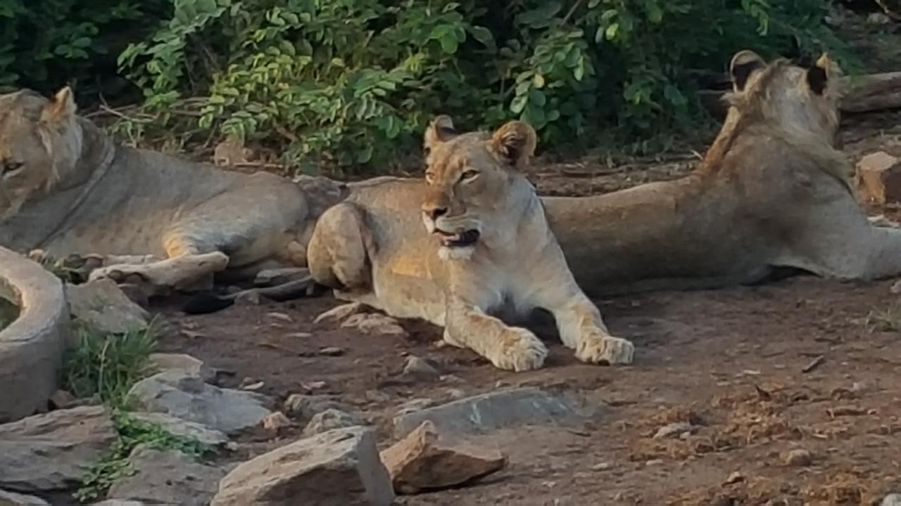
[[[147,330],[105,334],[85,324],[63,356],[61,384],[76,397],[100,395],[108,406],[122,408],[132,386],[149,371],[157,346],[153,322]]]

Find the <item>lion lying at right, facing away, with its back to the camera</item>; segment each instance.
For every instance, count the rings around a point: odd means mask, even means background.
[[[833,147],[838,68],[745,50],[730,111],[689,176],[592,197],[548,197],[551,230],[589,294],[751,284],[779,267],[817,276],[901,274],[901,230],[874,227]]]

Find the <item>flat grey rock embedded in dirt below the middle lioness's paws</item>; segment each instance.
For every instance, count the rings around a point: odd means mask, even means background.
[[[488,432],[522,425],[565,425],[590,416],[563,395],[535,387],[483,393],[394,418],[395,437],[403,438],[425,420],[441,434]]]

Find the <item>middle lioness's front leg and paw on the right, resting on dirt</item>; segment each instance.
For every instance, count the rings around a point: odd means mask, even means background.
[[[559,308],[549,308],[557,321],[560,340],[589,364],[631,364],[635,348],[626,339],[610,335],[601,312],[585,294],[575,294]]]

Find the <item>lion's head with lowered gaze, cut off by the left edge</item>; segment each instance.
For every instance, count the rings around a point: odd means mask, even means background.
[[[68,87],[52,100],[32,90],[0,95],[0,220],[74,170],[83,141],[75,112]]]

